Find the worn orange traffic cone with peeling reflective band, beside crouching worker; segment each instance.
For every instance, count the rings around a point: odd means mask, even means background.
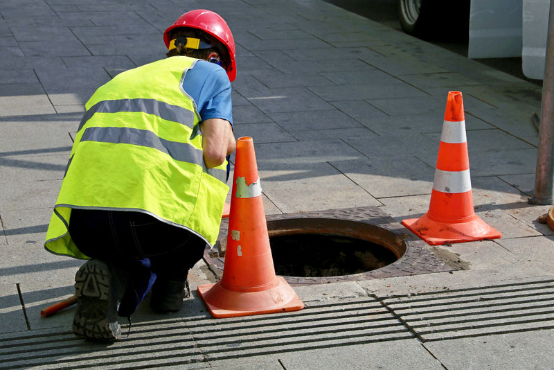
[[[200,285],[200,297],[214,317],[301,310],[304,303],[276,276],[252,138],[237,141],[223,276]]]

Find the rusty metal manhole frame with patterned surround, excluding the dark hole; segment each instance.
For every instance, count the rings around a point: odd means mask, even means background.
[[[266,221],[269,238],[281,235],[319,234],[320,231],[321,234],[369,240],[391,250],[398,258],[390,265],[359,274],[325,277],[283,276],[291,285],[339,283],[463,270],[463,261],[456,261],[445,253],[438,253],[437,247],[425,243],[377,206],[266,215]],[[343,228],[330,229],[330,222]],[[310,226],[305,227],[305,224]],[[283,229],[283,226],[287,229]],[[215,247],[207,248],[204,252],[204,261],[216,274],[217,279],[221,279],[224,265],[224,258],[218,251],[226,247],[228,230],[229,220],[224,219]]]

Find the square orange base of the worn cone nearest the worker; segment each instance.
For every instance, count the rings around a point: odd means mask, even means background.
[[[198,293],[213,317],[238,317],[297,311],[304,308],[296,292],[281,276],[274,288],[259,292],[235,292],[220,282],[199,285]]]

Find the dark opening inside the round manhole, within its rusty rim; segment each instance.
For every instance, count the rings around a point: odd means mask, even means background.
[[[343,276],[376,270],[397,261],[382,245],[325,234],[294,234],[269,238],[275,272],[283,276]]]

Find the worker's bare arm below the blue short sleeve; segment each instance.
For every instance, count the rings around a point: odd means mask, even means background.
[[[237,146],[231,123],[221,118],[209,118],[200,123],[200,129],[206,167],[220,166]]]

